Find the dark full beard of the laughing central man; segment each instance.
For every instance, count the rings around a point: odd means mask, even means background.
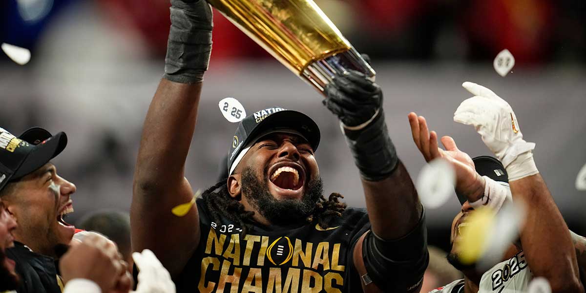
[[[321,178],[307,182],[301,199],[275,199],[268,191],[268,180],[259,180],[253,169],[242,172],[242,190],[250,204],[271,224],[304,222],[315,211],[315,205],[323,195]]]

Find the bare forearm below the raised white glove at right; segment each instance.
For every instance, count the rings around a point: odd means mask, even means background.
[[[553,292],[582,292],[570,231],[540,174],[510,182],[513,201],[529,207],[520,240],[534,275],[545,277]]]

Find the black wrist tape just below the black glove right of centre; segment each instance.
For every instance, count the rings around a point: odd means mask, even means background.
[[[397,168],[397,151],[389,137],[382,109],[366,127],[361,130],[344,128],[344,134],[362,178],[380,181]]]

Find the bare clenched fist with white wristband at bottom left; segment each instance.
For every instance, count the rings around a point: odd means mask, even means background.
[[[126,270],[126,264],[112,241],[90,235],[69,248],[60,259],[59,268],[64,283],[87,279],[96,282],[102,292],[111,292]]]

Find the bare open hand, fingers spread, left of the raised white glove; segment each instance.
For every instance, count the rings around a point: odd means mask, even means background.
[[[456,146],[453,138],[445,136],[441,138],[444,149],[438,147],[438,137],[435,131],[429,131],[427,122],[423,116],[411,112],[407,116],[409,124],[411,125],[411,135],[413,135],[413,142],[425,158],[426,162],[430,162],[437,158],[443,158],[448,161],[456,173],[456,189],[464,195],[472,195],[475,191],[475,186],[482,182],[482,177],[476,173],[474,162],[468,154],[462,152]],[[476,199],[470,199],[475,201]]]

